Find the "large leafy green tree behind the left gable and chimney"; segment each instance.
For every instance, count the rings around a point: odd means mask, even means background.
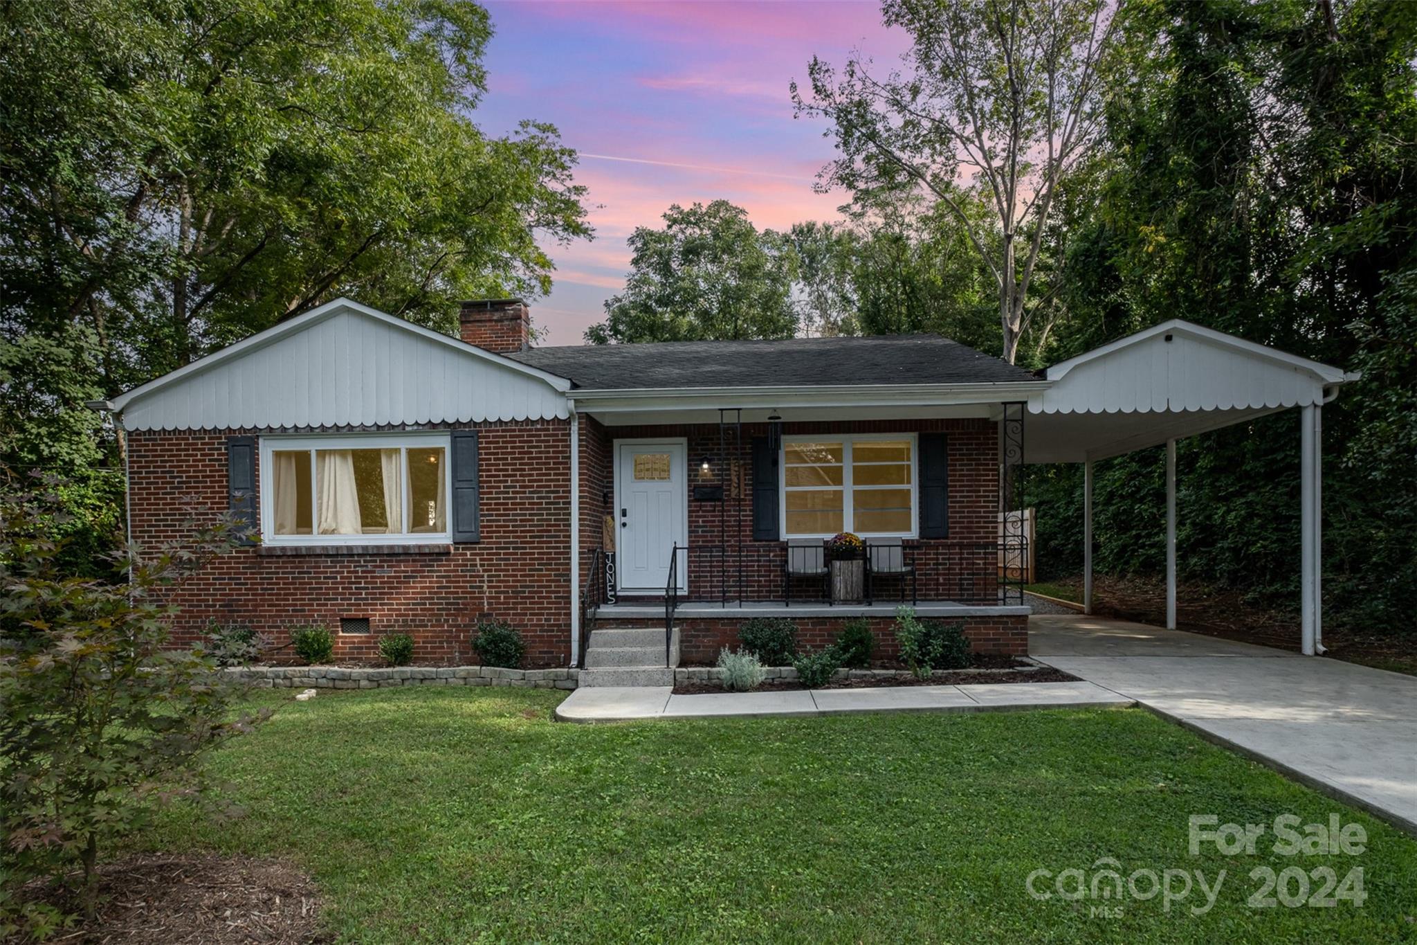
[[[584,188],[551,126],[475,123],[490,35],[470,0],[0,7],[0,459],[112,469],[84,401],[337,295],[452,332],[546,292]]]

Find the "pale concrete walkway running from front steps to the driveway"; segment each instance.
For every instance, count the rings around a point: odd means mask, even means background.
[[[713,715],[835,715],[843,713],[978,713],[1068,706],[1129,706],[1131,698],[1093,683],[985,683],[981,686],[881,686],[796,689],[779,693],[674,696],[672,686],[591,686],[557,706],[560,721]]]

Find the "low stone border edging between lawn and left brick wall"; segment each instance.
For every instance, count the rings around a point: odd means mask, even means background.
[[[228,666],[231,680],[256,689],[384,689],[391,686],[513,686],[575,689],[577,669],[497,669],[496,666]]]

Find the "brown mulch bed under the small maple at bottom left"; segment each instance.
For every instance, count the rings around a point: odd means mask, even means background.
[[[99,870],[92,924],[50,942],[103,945],[296,945],[330,942],[310,877],[282,860],[140,856]],[[72,907],[69,907],[72,908]]]

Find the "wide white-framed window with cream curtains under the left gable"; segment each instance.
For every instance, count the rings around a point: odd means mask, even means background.
[[[262,541],[449,541],[448,443],[448,434],[262,436]]]

